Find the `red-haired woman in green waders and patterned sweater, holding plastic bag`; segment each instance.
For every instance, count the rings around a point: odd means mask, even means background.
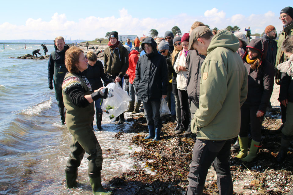
[[[92,91],[89,80],[82,73],[88,68],[88,60],[80,48],[72,46],[65,52],[65,65],[69,73],[62,83],[62,96],[66,110],[66,126],[72,134],[70,154],[65,168],[67,188],[76,186],[78,167],[83,155],[89,154],[89,179],[93,194],[110,195],[101,184],[102,149],[93,132],[94,103],[99,98],[106,98],[108,89]]]

